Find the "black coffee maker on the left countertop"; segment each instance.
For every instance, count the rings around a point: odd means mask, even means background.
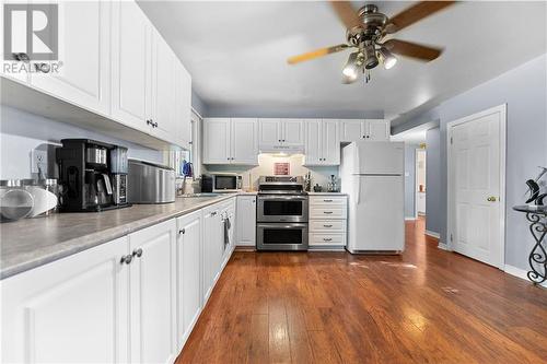
[[[89,139],[62,139],[57,149],[60,211],[97,212],[127,203],[127,149]]]

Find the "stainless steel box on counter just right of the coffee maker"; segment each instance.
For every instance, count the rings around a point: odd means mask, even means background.
[[[129,160],[127,192],[131,203],[175,202],[175,171],[155,163]]]

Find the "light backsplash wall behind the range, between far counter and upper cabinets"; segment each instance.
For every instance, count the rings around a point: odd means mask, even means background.
[[[290,175],[304,176],[307,172],[312,174],[312,186],[319,184],[326,188],[330,175],[338,177],[338,166],[325,167],[305,167],[303,166],[303,155],[278,156],[272,154],[258,155],[258,166],[235,166],[235,165],[206,165],[203,173],[211,172],[233,172],[241,174],[243,177],[243,187],[256,189],[258,186],[258,178],[260,176],[274,175],[275,163],[289,163]]]

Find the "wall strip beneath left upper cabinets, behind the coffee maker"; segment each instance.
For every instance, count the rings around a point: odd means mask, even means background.
[[[162,163],[163,153],[16,108],[0,106],[0,179],[30,178],[31,151],[48,152],[48,177],[55,175],[55,146],[65,138],[89,138],[128,148],[130,157]]]

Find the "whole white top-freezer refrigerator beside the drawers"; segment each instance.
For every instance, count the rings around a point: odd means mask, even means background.
[[[405,143],[359,141],[342,148],[341,191],[348,195],[352,254],[405,249]]]

